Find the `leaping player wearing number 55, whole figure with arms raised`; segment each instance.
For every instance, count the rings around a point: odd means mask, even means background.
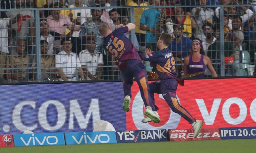
[[[144,115],[150,118],[153,122],[159,123],[159,116],[156,115],[158,108],[154,105],[151,96],[149,95],[148,77],[140,56],[133,46],[132,42],[124,35],[127,31],[131,31],[135,25],[129,23],[127,25],[117,25],[114,31],[106,24],[101,24],[99,31],[103,37],[106,37],[106,49],[116,58],[119,70],[123,74],[124,88],[124,104],[123,110],[130,110],[130,101],[132,96],[131,87],[133,77],[140,88],[140,94],[145,104],[146,110]]]

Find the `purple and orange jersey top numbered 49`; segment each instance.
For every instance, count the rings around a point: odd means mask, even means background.
[[[151,54],[139,54],[144,61],[151,61],[152,66],[156,67],[160,80],[176,79],[175,61],[172,51],[168,48],[154,51]]]

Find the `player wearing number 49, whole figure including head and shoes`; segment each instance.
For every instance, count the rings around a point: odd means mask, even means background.
[[[163,33],[158,41],[157,47],[159,51],[152,52],[146,49],[146,55],[140,54],[142,60],[150,61],[152,66],[156,67],[157,74],[160,81],[155,81],[149,84],[150,96],[154,100],[154,93],[162,94],[164,100],[168,103],[173,112],[180,114],[181,117],[186,119],[194,129],[194,137],[197,137],[203,125],[203,121],[197,121],[189,112],[180,105],[176,97],[176,90],[178,83],[176,80],[175,61],[172,51],[168,48],[171,41],[171,35]],[[150,122],[150,119],[143,119],[142,122]],[[198,131],[199,130],[199,131]]]

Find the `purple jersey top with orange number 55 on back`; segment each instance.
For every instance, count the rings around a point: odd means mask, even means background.
[[[127,31],[127,26],[119,27],[106,37],[106,49],[116,57],[117,62],[128,59],[141,60],[132,42],[124,35]]]

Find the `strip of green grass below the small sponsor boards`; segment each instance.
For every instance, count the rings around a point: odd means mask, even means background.
[[[253,153],[256,139],[0,148],[0,153]]]

